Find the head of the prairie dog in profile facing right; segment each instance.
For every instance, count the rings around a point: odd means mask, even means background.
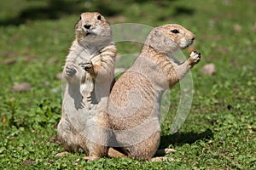
[[[148,35],[146,45],[162,54],[173,54],[179,49],[187,48],[193,43],[195,35],[176,24],[154,28]]]

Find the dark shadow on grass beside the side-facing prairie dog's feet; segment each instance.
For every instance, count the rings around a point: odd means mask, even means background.
[[[202,133],[174,133],[172,135],[161,136],[160,148],[167,148],[170,144],[173,145],[183,145],[183,144],[193,144],[197,140],[201,139],[212,139],[212,130],[207,128],[205,132]]]

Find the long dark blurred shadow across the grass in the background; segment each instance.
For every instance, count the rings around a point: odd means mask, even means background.
[[[138,5],[142,5],[143,3],[154,3],[155,7],[163,8],[164,10],[169,10],[170,8],[173,8],[173,16],[180,14],[194,14],[194,10],[192,8],[172,6],[172,1],[176,0],[126,0],[120,3],[118,6],[113,6],[108,1],[102,0],[95,0],[93,2],[87,2],[84,0],[46,0],[45,6],[39,5],[31,8],[24,8],[23,10],[20,11],[20,14],[18,14],[18,16],[16,16],[15,18],[0,20],[0,26],[19,26],[20,24],[26,23],[28,20],[57,20],[60,19],[65,14],[81,14],[84,11],[99,11],[103,15],[114,16],[122,14],[124,8],[127,8],[135,3],[137,3]],[[167,20],[168,17],[169,16],[161,15],[159,20]]]

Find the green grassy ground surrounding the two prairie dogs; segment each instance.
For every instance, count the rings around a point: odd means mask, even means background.
[[[109,4],[110,3],[110,4]],[[0,167],[1,169],[256,169],[256,3],[253,0],[208,1],[29,1],[0,6]],[[192,71],[194,99],[178,133],[168,135],[163,122],[160,147],[173,147],[175,161],[147,162],[102,158],[59,159],[55,143],[61,117],[61,81],[55,75],[74,39],[82,11],[99,11],[114,23],[160,26],[178,23],[195,32],[202,60]],[[139,53],[141,46],[119,42],[119,54]],[[189,54],[184,50],[184,54]],[[118,65],[131,65],[131,61]],[[201,67],[216,74],[201,75]],[[14,93],[15,82],[29,82]],[[178,105],[172,89],[172,115]]]

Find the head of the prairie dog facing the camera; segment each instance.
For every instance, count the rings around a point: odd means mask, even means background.
[[[76,37],[81,43],[111,42],[111,28],[97,12],[82,13],[75,26]]]

